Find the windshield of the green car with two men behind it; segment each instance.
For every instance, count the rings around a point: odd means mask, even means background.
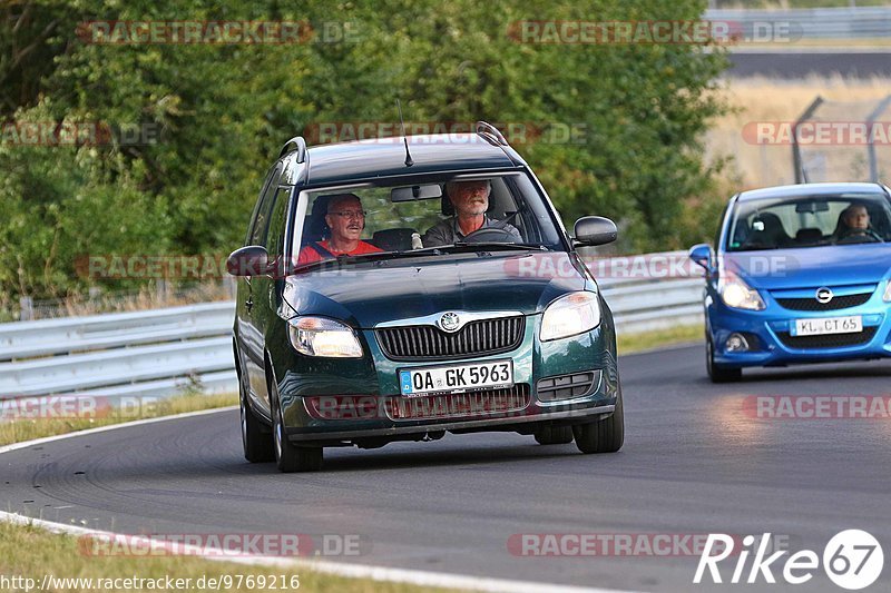
[[[561,249],[525,174],[305,190],[294,228],[298,268],[327,260]]]

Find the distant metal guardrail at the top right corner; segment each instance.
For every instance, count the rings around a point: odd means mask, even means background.
[[[709,9],[705,20],[737,22],[747,39],[758,39],[772,24],[801,39],[888,39],[891,8],[802,8],[786,10]],[[757,29],[757,30],[756,30]],[[768,40],[768,39],[767,39]],[[794,39],[797,40],[797,39]]]

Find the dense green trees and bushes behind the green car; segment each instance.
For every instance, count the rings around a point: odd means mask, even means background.
[[[225,254],[284,140],[320,122],[574,127],[517,148],[567,223],[620,221],[626,249],[678,247],[685,204],[712,191],[701,136],[726,59],[694,45],[520,43],[525,20],[695,20],[701,0],[30,0],[0,9],[0,118],[139,125],[157,141],[0,142],[3,297],[91,283],[86,254]],[[91,20],[309,21],[286,45],[86,43]],[[325,30],[349,30],[332,41]],[[25,55],[22,51],[28,49]],[[7,123],[9,125],[9,122]],[[683,227],[683,225],[682,225]],[[711,233],[711,229],[708,230]],[[695,233],[694,233],[695,235]]]

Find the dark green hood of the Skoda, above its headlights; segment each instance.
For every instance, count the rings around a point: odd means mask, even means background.
[[[296,274],[283,297],[298,315],[371,328],[447,310],[530,315],[586,283],[593,280],[575,254],[458,254]]]

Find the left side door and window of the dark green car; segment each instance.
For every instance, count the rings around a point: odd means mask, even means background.
[[[274,206],[278,178],[282,174],[281,165],[273,168],[266,177],[266,184],[257,202],[251,231],[245,240],[245,245],[265,245],[266,233],[270,226],[270,216]],[[257,326],[256,319],[261,315],[258,309],[264,307],[263,300],[258,300],[258,295],[263,294],[265,276],[248,276],[243,280],[243,286],[238,290],[236,303],[238,319],[238,339],[242,352],[242,369],[247,373],[247,380],[251,387],[251,398],[256,407],[268,415],[268,402],[266,394],[266,375],[263,365],[265,345],[263,333]]]

